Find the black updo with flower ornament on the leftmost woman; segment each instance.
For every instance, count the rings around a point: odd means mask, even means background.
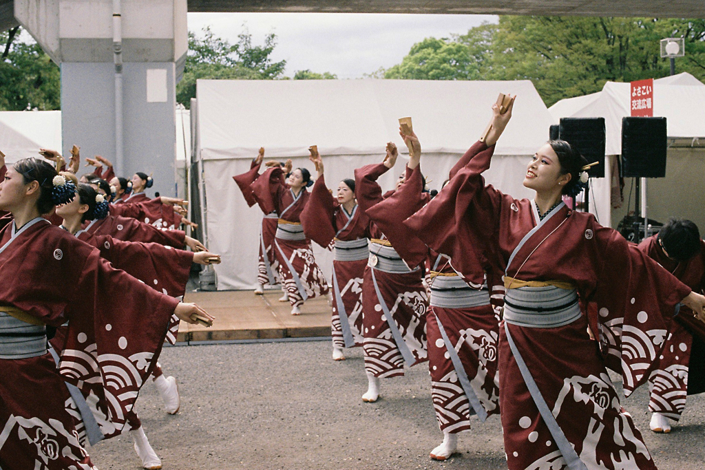
[[[61,176],[63,184],[54,185],[54,178],[59,176],[53,166],[43,160],[34,158],[22,159],[12,166],[23,176],[25,185],[36,181],[39,183],[39,199],[37,211],[39,214],[49,214],[54,206],[73,201],[75,185]]]

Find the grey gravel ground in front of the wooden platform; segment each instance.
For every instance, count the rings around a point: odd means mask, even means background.
[[[382,381],[381,399],[366,404],[362,350],[347,355],[332,361],[329,340],[168,347],[160,362],[178,379],[180,412],[166,414],[151,383],[137,412],[168,470],[506,468],[498,416],[473,418],[452,459],[429,459],[443,435],[426,364]],[[644,387],[623,400],[658,468],[703,469],[705,396],[688,398],[670,435],[649,431],[647,404]],[[100,469],[141,468],[128,436],[89,452]]]

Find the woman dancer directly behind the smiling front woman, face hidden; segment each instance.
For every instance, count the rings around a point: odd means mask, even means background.
[[[403,135],[417,141],[415,134]],[[476,156],[481,147],[474,145],[450,171],[453,178],[465,163]],[[492,149],[484,149],[491,152]],[[412,178],[419,178],[415,173]],[[446,181],[447,182],[447,181]],[[412,214],[400,210],[405,201],[418,199],[421,181],[412,179],[401,185],[391,197],[379,205],[396,223]],[[470,429],[470,416],[477,414],[484,422],[499,413],[499,374],[497,369],[498,311],[490,303],[484,268],[476,260],[472,278],[460,276],[451,261],[442,254],[431,254],[430,309],[426,319],[429,373],[436,419],[443,432],[441,445],[431,450],[430,457],[446,460],[458,449],[458,433]]]

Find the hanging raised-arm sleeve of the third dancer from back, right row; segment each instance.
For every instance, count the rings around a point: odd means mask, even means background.
[[[336,201],[326,187],[323,175],[316,180],[311,195],[300,215],[304,234],[314,242],[327,248],[336,236],[333,216]]]

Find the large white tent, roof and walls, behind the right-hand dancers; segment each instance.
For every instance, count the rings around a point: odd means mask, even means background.
[[[202,223],[207,246],[222,256],[218,288],[255,285],[262,213],[248,208],[231,176],[250,168],[257,149],[266,159],[312,164],[308,147],[317,144],[326,163],[326,183],[335,187],[355,168],[380,161],[386,142],[396,142],[398,118],[412,116],[422,143],[422,171],[439,188],[448,171],[482,135],[500,92],[517,94],[513,118],[486,173],[489,183],[515,197],[530,197],[522,186],[527,156],[548,138],[551,116],[529,81],[434,82],[415,80],[199,80],[195,156],[202,168]],[[391,189],[404,160],[381,178]],[[330,273],[331,254],[314,249]]]

